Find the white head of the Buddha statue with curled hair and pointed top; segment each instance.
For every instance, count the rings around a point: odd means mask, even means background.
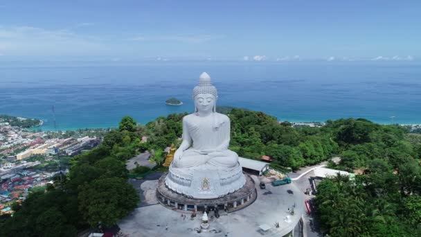
[[[199,85],[193,89],[195,112],[216,112],[217,89],[211,83],[208,73],[201,73]]]

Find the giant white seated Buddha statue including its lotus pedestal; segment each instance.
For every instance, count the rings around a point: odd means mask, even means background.
[[[228,150],[230,120],[216,112],[217,89],[201,73],[193,89],[195,112],[183,118],[183,141],[165,184],[192,198],[219,198],[245,183],[237,153]]]

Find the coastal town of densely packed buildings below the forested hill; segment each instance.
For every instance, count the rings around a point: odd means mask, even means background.
[[[13,203],[69,172],[71,157],[98,146],[101,134],[32,131],[0,119],[0,215],[12,213]]]

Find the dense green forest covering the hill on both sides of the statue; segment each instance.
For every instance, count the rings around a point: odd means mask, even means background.
[[[365,119],[293,128],[262,112],[231,107],[218,111],[230,117],[230,149],[241,157],[269,155],[274,168],[296,170],[337,155],[342,159],[331,167],[361,171],[353,180],[339,176],[319,184],[315,205],[324,234],[420,234],[420,134]],[[138,203],[126,180],[125,161],[150,150],[152,160],[161,164],[163,150],[181,142],[184,115],[161,116],[146,125],[123,118],[119,129],[107,133],[98,148],[71,159],[66,177],[57,178],[46,192],[31,193],[21,205],[13,205],[13,217],[1,216],[0,236],[74,236],[98,223],[114,225]],[[147,142],[142,143],[142,137]]]

